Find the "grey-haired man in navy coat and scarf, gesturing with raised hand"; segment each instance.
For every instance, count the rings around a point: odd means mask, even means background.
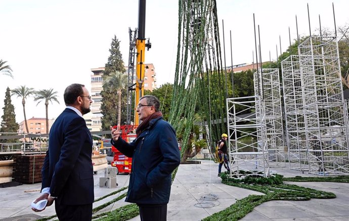
[[[127,143],[120,138],[120,126],[110,127],[111,144],[132,157],[126,202],[137,203],[142,221],[165,221],[171,190],[171,173],[180,164],[176,131],[162,119],[159,100],[143,96],[137,106],[142,123],[137,139]]]

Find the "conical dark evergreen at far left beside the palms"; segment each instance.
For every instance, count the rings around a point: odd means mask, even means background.
[[[18,123],[16,122],[15,107],[11,102],[11,91],[9,87],[6,89],[5,100],[4,100],[4,115],[2,116],[0,132],[17,132],[19,129]],[[15,140],[5,140],[6,143],[13,143]]]

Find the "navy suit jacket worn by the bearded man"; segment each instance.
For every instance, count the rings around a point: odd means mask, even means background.
[[[50,130],[41,188],[50,187],[51,196],[58,197],[61,204],[93,203],[92,145],[85,120],[66,108]]]

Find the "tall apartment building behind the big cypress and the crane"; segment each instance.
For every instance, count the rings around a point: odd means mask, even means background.
[[[144,90],[153,91],[156,89],[156,73],[155,68],[152,63],[145,64],[145,74],[144,74]],[[101,105],[102,96],[101,92],[103,90],[103,72],[105,68],[91,68],[91,98],[94,101],[91,104],[91,112],[83,115],[90,131],[101,131],[102,129],[102,116]],[[127,74],[127,66],[125,66],[125,73]],[[134,71],[134,82],[136,82],[136,71]]]

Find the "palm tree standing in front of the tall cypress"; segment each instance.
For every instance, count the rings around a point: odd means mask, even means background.
[[[105,78],[104,84],[107,84],[109,89],[116,90],[116,94],[118,97],[118,105],[117,105],[117,124],[121,123],[121,95],[122,89],[125,89],[127,86],[127,74],[122,73],[120,71],[112,72],[109,76]]]

